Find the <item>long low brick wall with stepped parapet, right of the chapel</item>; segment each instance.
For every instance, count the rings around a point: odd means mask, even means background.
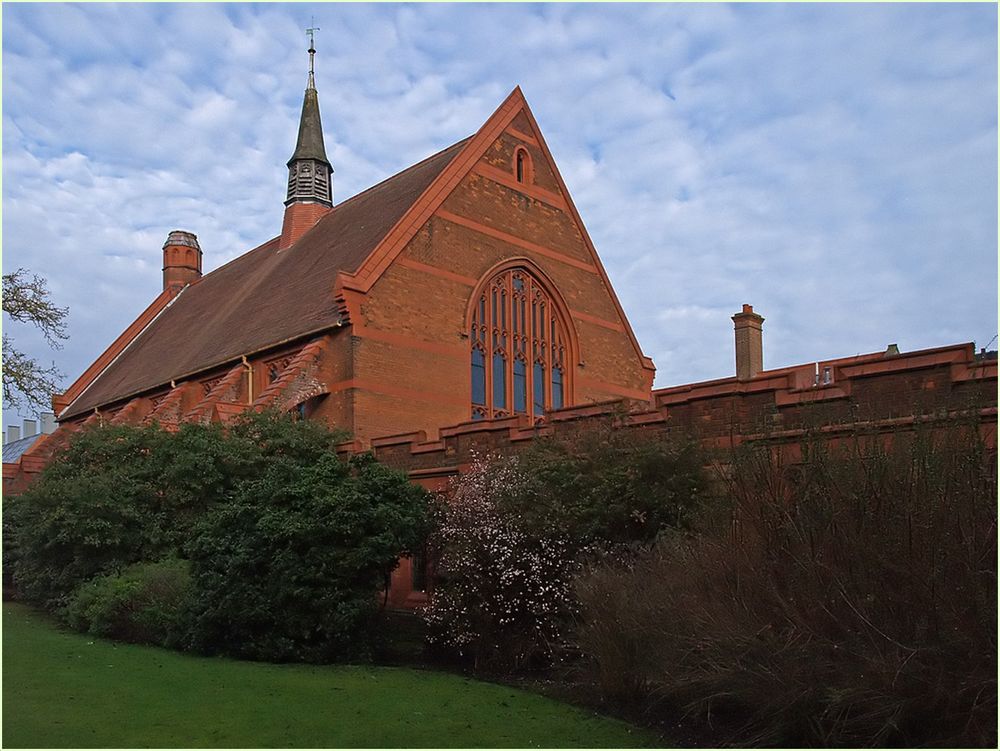
[[[725,378],[656,389],[648,402],[567,407],[550,412],[547,422],[535,427],[522,417],[465,422],[442,428],[436,441],[416,432],[376,438],[370,446],[349,443],[344,449],[370,448],[379,461],[439,489],[439,480],[459,474],[474,451],[516,452],[538,436],[558,437],[591,421],[615,419],[625,428],[648,432],[684,431],[707,448],[725,449],[748,441],[794,443],[807,433],[833,437],[862,427],[897,432],[970,410],[995,445],[997,361],[976,360],[968,344],[821,361],[763,371],[749,381]]]

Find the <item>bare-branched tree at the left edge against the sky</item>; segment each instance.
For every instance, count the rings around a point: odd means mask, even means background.
[[[3,275],[3,312],[10,320],[30,323],[41,330],[53,349],[62,348],[66,339],[68,308],[57,307],[49,300],[45,280],[18,269]],[[42,367],[37,360],[15,349],[13,341],[3,335],[3,401],[5,405],[31,406],[47,409],[52,393],[63,377],[53,363]]]

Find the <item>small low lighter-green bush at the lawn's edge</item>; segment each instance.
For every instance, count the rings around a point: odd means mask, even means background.
[[[170,646],[183,626],[189,581],[188,562],[177,558],[96,576],[70,599],[66,622],[95,636]]]

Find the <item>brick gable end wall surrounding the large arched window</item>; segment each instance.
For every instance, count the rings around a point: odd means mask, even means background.
[[[524,189],[512,171],[519,145],[529,150],[535,176]],[[574,403],[649,399],[648,371],[555,175],[537,145],[508,129],[424,222],[352,317],[357,438],[367,442],[421,430],[434,437],[439,426],[470,419],[467,306],[483,275],[511,258],[538,266],[569,308],[583,363],[574,364]]]

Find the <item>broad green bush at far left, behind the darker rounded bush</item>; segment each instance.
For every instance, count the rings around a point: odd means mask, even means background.
[[[264,468],[291,478],[343,433],[265,412],[228,432],[185,424],[81,431],[20,497],[4,503],[20,596],[52,608],[93,576],[186,555],[194,525]],[[7,530],[5,530],[6,532]]]

